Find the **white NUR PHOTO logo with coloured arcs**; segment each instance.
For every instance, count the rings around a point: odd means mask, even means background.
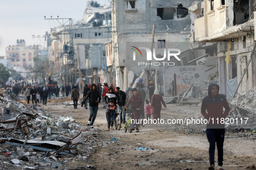
[[[158,57],[156,57],[156,49],[155,48],[153,48],[153,53],[152,53],[152,51],[147,47],[139,47],[139,48],[134,47],[134,46],[131,46],[131,47],[133,47],[132,50],[134,50],[133,51],[133,60],[134,61],[136,60],[136,54],[138,54],[139,57],[143,57],[140,49],[146,50],[146,60],[147,61],[152,61],[152,56],[157,61],[165,60],[166,56],[167,56],[168,61],[170,61],[171,57],[175,57],[176,60],[181,61],[181,59],[178,58],[178,55],[181,54],[181,50],[176,49],[176,48],[164,48],[163,49],[164,50],[164,55],[162,56],[162,58],[158,58]],[[166,55],[166,53],[167,53],[167,55]],[[175,63],[173,63],[173,62],[153,62],[153,63],[138,62],[138,66],[140,66],[140,65],[160,66],[161,63],[164,66],[165,66],[165,64],[167,64],[168,66],[174,66],[175,65]]]

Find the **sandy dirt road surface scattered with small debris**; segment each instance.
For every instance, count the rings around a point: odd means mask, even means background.
[[[87,123],[90,111],[78,105],[64,106],[62,102],[70,98],[49,100],[47,106],[39,104],[46,114],[52,116],[73,116],[79,123]],[[201,118],[200,107],[178,106],[167,104],[162,110],[161,118],[176,119],[185,117]],[[120,169],[174,169],[174,170],[204,170],[209,166],[208,141],[204,125],[179,124],[146,124],[140,132],[124,132],[107,129],[105,109],[100,103],[94,127],[102,129],[100,134],[106,142],[115,137],[117,141],[97,148],[94,154],[84,163],[75,161],[68,164],[67,169],[83,169],[90,165],[99,170]],[[224,168],[226,170],[253,169],[256,164],[255,140],[249,140],[237,132],[226,132],[224,141]],[[147,150],[136,150],[143,147]],[[217,160],[217,148],[215,151]],[[217,165],[217,162],[216,164]],[[217,167],[215,167],[217,169]],[[256,168],[255,168],[256,169]]]

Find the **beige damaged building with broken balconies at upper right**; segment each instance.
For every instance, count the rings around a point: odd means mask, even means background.
[[[255,40],[253,0],[204,0],[189,9],[194,16],[191,41],[217,45],[220,93],[230,97],[229,82],[237,79],[239,84],[243,74],[238,92],[256,86],[255,57],[250,61]]]

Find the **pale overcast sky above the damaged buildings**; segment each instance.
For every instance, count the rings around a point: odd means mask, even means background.
[[[94,1],[110,4],[109,0]],[[5,56],[5,48],[16,45],[17,39],[25,40],[26,45],[46,45],[44,38],[32,35],[42,37],[60,24],[44,16],[72,18],[75,23],[83,18],[86,4],[87,0],[0,0],[0,56]]]

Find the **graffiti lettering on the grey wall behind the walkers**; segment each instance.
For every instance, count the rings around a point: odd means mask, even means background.
[[[184,67],[179,70],[181,73],[176,77],[176,81],[179,84],[194,84],[196,82],[195,79],[198,79],[200,76],[196,72],[196,68],[193,67]]]

